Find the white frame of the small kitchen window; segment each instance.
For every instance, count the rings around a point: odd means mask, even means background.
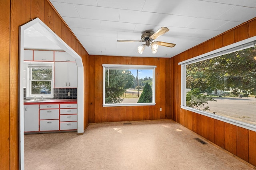
[[[32,68],[33,67],[40,67],[40,66],[49,66],[52,68],[52,79],[51,82],[51,94],[31,94],[32,93]],[[27,86],[26,86],[26,99],[34,99],[37,96],[43,96],[43,98],[46,99],[52,99],[54,98],[54,62],[29,62],[26,65],[27,71]],[[40,80],[41,81],[41,80]],[[42,81],[49,81],[49,80],[42,80]]]

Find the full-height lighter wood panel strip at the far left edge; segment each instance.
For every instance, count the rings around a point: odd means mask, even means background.
[[[0,1],[0,165],[10,166],[10,1]]]

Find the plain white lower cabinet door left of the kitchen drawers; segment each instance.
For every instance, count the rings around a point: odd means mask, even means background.
[[[39,105],[24,105],[24,132],[39,131]]]

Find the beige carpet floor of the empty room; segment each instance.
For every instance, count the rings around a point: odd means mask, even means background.
[[[84,135],[30,134],[24,137],[25,170],[253,169],[195,138],[172,120],[90,124]]]

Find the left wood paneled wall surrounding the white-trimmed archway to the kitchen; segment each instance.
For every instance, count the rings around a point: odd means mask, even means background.
[[[89,55],[49,0],[0,1],[0,165],[1,169],[19,168],[18,127],[18,65],[19,26],[33,18],[40,18],[78,55],[84,64],[84,129],[88,125],[88,62]]]

